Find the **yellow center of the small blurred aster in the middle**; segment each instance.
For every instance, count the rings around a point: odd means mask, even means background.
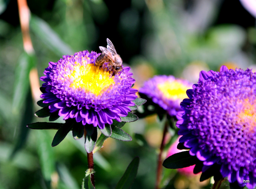
[[[166,81],[162,84],[157,85],[158,89],[164,93],[164,96],[169,99],[184,99],[188,98],[186,91],[188,86],[178,82],[178,81]]]

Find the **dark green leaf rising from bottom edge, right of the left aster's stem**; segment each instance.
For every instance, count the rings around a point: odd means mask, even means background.
[[[134,182],[138,167],[139,167],[140,159],[139,157],[135,157],[132,162],[128,165],[126,171],[124,172],[123,177],[118,181],[115,189],[129,189]]]

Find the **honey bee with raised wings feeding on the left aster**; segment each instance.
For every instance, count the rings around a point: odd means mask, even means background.
[[[99,69],[102,69],[102,66],[105,62],[109,62],[109,74],[110,71],[113,70],[113,75],[115,76],[117,72],[122,71],[122,63],[123,60],[121,57],[116,53],[116,49],[113,43],[107,38],[107,48],[106,47],[99,47],[102,53],[97,57],[95,61],[95,65],[99,66]]]

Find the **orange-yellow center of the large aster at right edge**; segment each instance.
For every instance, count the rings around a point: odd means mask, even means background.
[[[256,102],[251,103],[249,99],[245,99],[242,102],[242,111],[238,114],[239,122],[243,123],[244,130],[249,127],[249,131],[256,126]]]

